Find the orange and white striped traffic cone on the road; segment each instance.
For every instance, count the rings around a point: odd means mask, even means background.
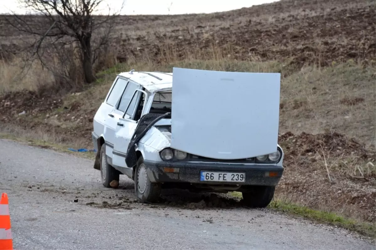
[[[0,200],[0,250],[13,250],[11,215],[9,215],[8,194]]]

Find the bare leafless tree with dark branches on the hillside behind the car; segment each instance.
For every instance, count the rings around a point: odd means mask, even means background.
[[[44,55],[46,48],[64,56],[64,48],[77,44],[79,61],[86,83],[95,81],[93,64],[101,48],[108,45],[109,35],[120,8],[111,11],[107,5],[106,15],[100,11],[105,0],[19,0],[24,8],[35,12],[34,17],[12,14],[8,23],[17,30],[36,37],[32,55],[47,65],[50,58]],[[96,41],[93,42],[95,36]],[[62,57],[59,60],[63,60]],[[66,55],[65,55],[66,56]]]

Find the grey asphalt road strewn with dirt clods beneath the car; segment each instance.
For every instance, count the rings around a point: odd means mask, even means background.
[[[136,203],[131,180],[121,176],[119,189],[104,188],[92,164],[0,140],[0,192],[9,196],[14,249],[376,249],[346,230],[269,209]]]

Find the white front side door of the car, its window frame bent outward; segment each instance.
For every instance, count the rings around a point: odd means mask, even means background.
[[[126,152],[130,139],[135,133],[137,120],[144,112],[144,103],[147,100],[147,93],[141,89],[136,89],[130,99],[124,116],[118,120],[118,127],[115,132],[114,158],[112,164],[120,167],[127,167],[125,163]]]

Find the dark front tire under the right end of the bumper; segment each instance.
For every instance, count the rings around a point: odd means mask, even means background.
[[[252,208],[265,208],[274,196],[274,186],[249,186],[243,191],[243,201],[246,206]]]

